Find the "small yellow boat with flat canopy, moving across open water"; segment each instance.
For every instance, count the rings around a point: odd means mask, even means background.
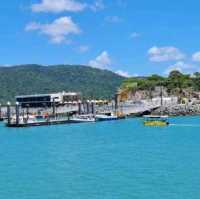
[[[167,120],[168,116],[156,116],[156,115],[147,115],[144,116],[145,126],[168,126],[169,122]]]

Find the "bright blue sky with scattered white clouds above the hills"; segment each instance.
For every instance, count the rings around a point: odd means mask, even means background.
[[[6,0],[0,65],[83,64],[123,76],[200,71],[198,0]]]

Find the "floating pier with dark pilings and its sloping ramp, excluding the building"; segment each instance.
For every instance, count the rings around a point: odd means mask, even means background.
[[[6,106],[7,127],[30,127],[47,126],[58,124],[72,124],[83,121],[72,120],[73,116],[89,116],[95,118],[96,115],[107,115],[115,113],[117,119],[126,117],[141,116],[150,113],[158,108],[155,104],[125,104],[115,101],[85,100],[67,102],[63,105],[56,105],[54,102],[51,107],[29,108],[22,107],[19,102],[12,106],[9,102]],[[117,108],[117,109],[116,109]],[[97,121],[97,120],[95,120]],[[87,121],[86,121],[87,122]]]

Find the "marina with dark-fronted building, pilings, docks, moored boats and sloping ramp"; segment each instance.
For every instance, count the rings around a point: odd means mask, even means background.
[[[6,127],[48,126],[71,123],[113,121],[144,115],[159,107],[146,102],[122,104],[115,100],[82,100],[79,93],[60,92],[17,96],[15,105],[10,102],[1,109]]]

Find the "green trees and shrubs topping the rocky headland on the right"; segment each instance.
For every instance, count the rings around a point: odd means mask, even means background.
[[[191,92],[200,91],[200,73],[193,75],[182,74],[179,71],[172,71],[168,77],[152,75],[144,78],[128,78],[121,85],[121,92],[135,90],[148,90],[151,92],[156,86],[167,88],[171,95],[181,96],[183,92],[189,95]]]

